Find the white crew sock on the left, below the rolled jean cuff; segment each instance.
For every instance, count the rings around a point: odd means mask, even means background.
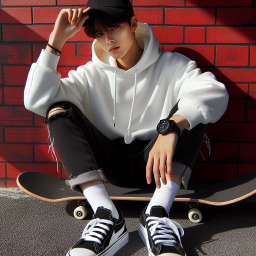
[[[103,206],[104,208],[111,210],[112,216],[118,219],[118,211],[110,199],[103,183],[86,187],[83,190],[83,194],[88,200],[94,213],[96,212],[97,207]]]

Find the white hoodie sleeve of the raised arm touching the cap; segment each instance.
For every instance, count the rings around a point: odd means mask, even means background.
[[[45,116],[53,103],[70,101],[77,106],[84,105],[87,80],[81,75],[79,67],[71,70],[67,78],[60,79],[56,72],[59,56],[42,49],[37,61],[32,63],[25,88],[25,108]]]

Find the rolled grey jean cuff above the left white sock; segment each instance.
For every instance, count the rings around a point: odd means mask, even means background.
[[[70,179],[66,179],[66,184],[70,186],[73,191],[81,193],[82,190],[80,188],[80,184],[84,182],[92,181],[92,180],[106,181],[106,177],[103,173],[103,170],[102,169],[91,170],[91,171],[87,171],[82,174],[79,174],[77,176],[73,176]]]

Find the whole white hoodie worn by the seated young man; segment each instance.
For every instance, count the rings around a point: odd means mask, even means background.
[[[135,34],[144,50],[128,70],[118,68],[94,40],[92,61],[60,78],[59,56],[42,49],[28,73],[25,107],[45,116],[53,103],[70,101],[107,138],[124,137],[127,144],[135,138],[151,139],[158,121],[178,100],[176,113],[186,117],[188,129],[217,121],[227,106],[225,86],[211,72],[201,73],[187,57],[160,51],[149,25],[139,23]]]

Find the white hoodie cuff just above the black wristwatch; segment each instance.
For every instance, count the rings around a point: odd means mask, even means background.
[[[175,114],[181,114],[188,120],[190,124],[190,127],[187,128],[188,130],[204,120],[203,114],[198,107],[189,102],[184,102],[181,105],[178,105],[178,110]]]

